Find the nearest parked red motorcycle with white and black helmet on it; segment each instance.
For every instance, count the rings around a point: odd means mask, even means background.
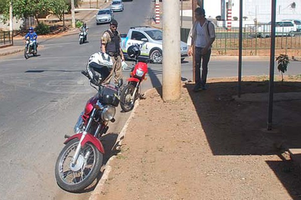
[[[101,84],[111,70],[104,63],[112,64],[112,60],[105,53],[94,53],[89,58],[87,71],[82,71],[98,89],[90,83],[97,94],[87,101],[79,115],[75,134],[65,135],[66,145],[56,161],[55,177],[66,191],[82,191],[95,180],[102,166],[105,152],[100,137],[108,130],[108,122],[115,121],[115,109],[119,104],[119,85]]]

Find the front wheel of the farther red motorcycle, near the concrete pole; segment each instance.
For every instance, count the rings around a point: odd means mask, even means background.
[[[127,84],[123,87],[120,94],[120,106],[123,111],[128,112],[134,108],[135,101],[137,99],[137,90],[134,94],[135,86]]]

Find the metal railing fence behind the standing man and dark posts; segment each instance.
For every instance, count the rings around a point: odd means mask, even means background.
[[[223,51],[227,54],[229,50],[237,50],[239,48],[239,29],[231,28],[227,30],[223,27],[216,27],[216,39],[212,44],[212,49]],[[186,42],[189,29],[181,28],[181,40]],[[270,32],[265,30],[259,32],[258,28],[253,26],[245,26],[242,33],[242,48],[252,50],[257,55],[257,50],[270,48]],[[295,31],[279,31],[276,32],[275,49],[301,49],[301,32]]]

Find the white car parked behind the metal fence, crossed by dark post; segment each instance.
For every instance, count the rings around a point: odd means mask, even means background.
[[[257,27],[250,28],[250,35],[259,36],[262,38],[269,37],[271,35],[271,22],[258,24]],[[276,36],[291,36],[298,32],[297,25],[290,20],[276,21],[275,23],[275,35]]]

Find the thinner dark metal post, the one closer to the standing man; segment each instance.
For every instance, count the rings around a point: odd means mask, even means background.
[[[241,62],[242,62],[242,0],[239,0],[239,53],[238,53],[238,97],[241,94]]]

